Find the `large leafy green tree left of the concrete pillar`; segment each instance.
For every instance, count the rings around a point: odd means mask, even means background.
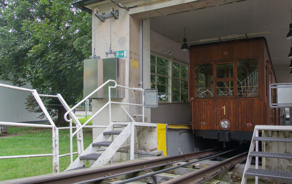
[[[91,15],[70,0],[0,1],[0,78],[42,94],[60,93],[68,105],[83,91],[83,60],[91,55]],[[56,125],[64,125],[58,99],[44,98]],[[28,110],[40,112],[31,98]]]

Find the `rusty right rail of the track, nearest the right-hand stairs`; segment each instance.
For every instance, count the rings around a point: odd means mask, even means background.
[[[175,184],[175,183],[198,183],[206,174],[214,175],[218,173],[222,166],[225,165],[233,165],[235,162],[242,162],[242,160],[246,159],[248,152],[241,153],[229,159],[223,160],[221,162],[212,164],[210,166],[204,167],[202,169],[198,169],[196,171],[187,173],[185,175],[179,176],[177,178],[173,178],[171,180],[165,181],[161,184]]]

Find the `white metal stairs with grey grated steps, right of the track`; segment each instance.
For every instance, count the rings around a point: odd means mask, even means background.
[[[259,152],[258,151],[258,141],[292,143],[292,138],[259,137],[259,133],[258,133],[259,130],[263,130],[263,131],[292,131],[292,126],[269,126],[269,125],[256,125],[255,126],[255,129],[253,132],[253,138],[252,138],[252,142],[251,142],[251,147],[250,147],[249,152],[248,152],[248,157],[246,160],[246,165],[244,168],[244,173],[242,176],[241,184],[246,184],[247,176],[256,176],[256,184],[258,184],[258,177],[292,180],[292,172],[258,169],[258,158],[259,157],[292,159],[291,153]],[[255,147],[256,147],[256,151],[254,151]],[[256,157],[256,169],[250,168],[252,157]]]

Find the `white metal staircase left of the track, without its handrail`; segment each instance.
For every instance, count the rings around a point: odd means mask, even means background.
[[[113,127],[126,126],[122,131],[114,131]],[[134,159],[134,130],[135,126],[157,126],[151,123],[141,123],[141,122],[112,122],[99,136],[96,138],[91,145],[89,145],[84,152],[79,155],[79,157],[65,170],[76,170],[84,169],[84,164],[88,160],[95,160],[91,167],[104,166],[109,163],[111,158],[121,147],[121,145],[131,136],[130,145],[130,159]],[[113,141],[107,141],[110,136],[118,135]],[[107,147],[106,150],[100,154],[95,153],[99,151],[100,147]]]

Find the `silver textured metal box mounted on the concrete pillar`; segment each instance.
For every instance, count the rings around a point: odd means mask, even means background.
[[[125,67],[126,61],[119,58],[84,60],[83,97],[88,96],[109,79],[117,81],[117,84],[121,86],[125,86]],[[114,86],[114,82],[109,82],[103,86],[90,99],[108,98],[108,86]],[[125,96],[125,88],[117,87],[111,89],[111,98],[125,98]]]

